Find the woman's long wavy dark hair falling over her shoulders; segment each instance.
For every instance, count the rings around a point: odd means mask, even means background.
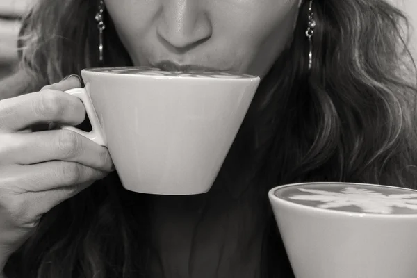
[[[38,90],[99,65],[96,4],[39,0],[22,31],[17,75],[27,83],[8,90],[17,88],[15,95]],[[221,172],[230,182],[262,177],[263,193],[297,181],[416,188],[416,70],[405,39],[407,18],[384,0],[314,0],[309,72],[307,6],[300,8],[291,47],[263,79]],[[106,65],[131,65],[110,19],[106,25]],[[247,174],[237,174],[242,172]],[[133,198],[114,186],[119,183],[114,174],[101,183],[105,186],[92,186],[45,214],[10,258],[6,275],[145,275],[146,256],[137,255],[147,238],[138,234],[146,217],[137,212],[145,209],[146,197]],[[269,243],[279,244],[274,227],[270,218]],[[272,277],[281,260],[275,256],[266,260]]]

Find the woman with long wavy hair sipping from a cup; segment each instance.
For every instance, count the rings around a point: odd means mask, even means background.
[[[407,19],[386,1],[104,2],[40,0],[25,19],[22,70],[2,89],[16,97],[0,102],[9,278],[293,277],[268,189],[416,188]],[[49,124],[84,121],[81,102],[62,92],[81,83],[63,76],[161,60],[262,78],[209,193],[126,191],[104,147]]]

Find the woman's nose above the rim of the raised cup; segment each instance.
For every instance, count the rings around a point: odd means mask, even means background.
[[[156,31],[176,51],[183,52],[211,37],[205,0],[162,0]]]

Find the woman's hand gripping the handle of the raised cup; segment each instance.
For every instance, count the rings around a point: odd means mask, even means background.
[[[0,254],[15,252],[42,214],[113,171],[106,147],[68,130],[32,132],[34,124],[81,124],[82,102],[65,92],[76,77],[40,92],[0,100]]]

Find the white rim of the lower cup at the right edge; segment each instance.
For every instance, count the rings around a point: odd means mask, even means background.
[[[336,211],[333,209],[327,209],[327,208],[319,208],[316,206],[307,206],[304,204],[298,204],[295,202],[290,202],[286,199],[282,199],[280,197],[277,197],[277,195],[275,195],[275,192],[277,190],[281,190],[283,188],[288,188],[288,187],[293,187],[293,186],[306,186],[306,185],[318,185],[318,184],[335,184],[335,185],[356,185],[356,186],[375,186],[375,187],[382,187],[382,188],[394,188],[394,189],[398,189],[398,187],[395,186],[384,186],[384,185],[380,185],[380,184],[373,184],[373,183],[351,183],[351,182],[332,182],[332,181],[322,181],[322,182],[301,182],[301,183],[289,183],[289,184],[284,184],[281,186],[275,186],[274,188],[271,188],[268,191],[268,197],[270,199],[270,203],[272,204],[272,202],[276,202],[279,203],[281,205],[287,206],[287,207],[291,207],[291,208],[295,208],[295,209],[303,209],[304,211],[311,211],[311,212],[316,212],[316,213],[329,213],[331,215],[340,215],[340,216],[348,216],[348,217],[360,217],[360,218],[394,218],[394,219],[398,219],[398,218],[417,218],[417,213],[410,213],[410,214],[405,214],[405,213],[395,213],[395,214],[380,214],[380,213],[359,213],[356,211]],[[402,190],[409,190],[412,191],[414,193],[417,193],[417,190],[414,189],[410,189],[410,188],[400,188]]]

